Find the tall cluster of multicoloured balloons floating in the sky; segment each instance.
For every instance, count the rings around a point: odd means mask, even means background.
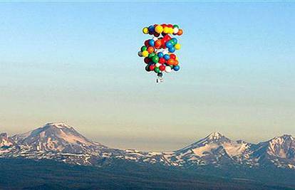
[[[172,70],[180,70],[175,51],[181,46],[174,36],[181,36],[182,29],[177,24],[163,23],[145,27],[143,33],[154,36],[146,40],[138,52],[138,56],[144,57],[144,62],[147,64],[145,70],[154,71],[161,78],[164,71],[170,73]]]

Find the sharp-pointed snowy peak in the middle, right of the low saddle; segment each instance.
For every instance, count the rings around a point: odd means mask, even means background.
[[[234,159],[247,155],[252,144],[232,141],[219,132],[213,132],[204,139],[179,149],[168,157],[172,165],[194,166],[233,163]]]

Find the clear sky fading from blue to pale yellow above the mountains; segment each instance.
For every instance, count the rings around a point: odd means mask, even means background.
[[[142,28],[177,23],[180,71],[155,83]],[[109,147],[167,151],[211,132],[295,135],[291,1],[0,3],[0,132],[66,122]]]

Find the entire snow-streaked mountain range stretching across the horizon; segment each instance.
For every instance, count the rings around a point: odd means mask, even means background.
[[[63,122],[48,123],[31,132],[0,134],[0,157],[53,159],[68,164],[101,165],[115,159],[172,167],[282,167],[295,169],[295,139],[291,135],[251,144],[213,132],[172,152],[113,149],[93,142]]]

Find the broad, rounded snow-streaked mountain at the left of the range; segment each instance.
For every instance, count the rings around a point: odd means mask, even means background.
[[[17,146],[0,157],[26,157],[30,159],[56,159],[69,164],[94,164],[110,156],[116,149],[109,149],[83,137],[65,123],[48,123],[31,132],[16,134]]]

